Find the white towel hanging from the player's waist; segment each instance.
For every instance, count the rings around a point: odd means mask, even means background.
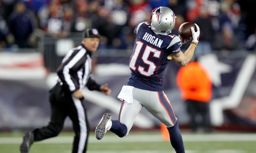
[[[133,103],[133,86],[123,86],[117,98],[127,103]]]

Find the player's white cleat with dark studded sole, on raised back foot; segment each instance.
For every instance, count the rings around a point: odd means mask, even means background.
[[[96,139],[98,140],[102,139],[105,133],[108,130],[110,130],[111,126],[112,126],[111,115],[109,113],[105,113],[102,116],[98,126],[96,127],[96,130],[95,130]]]

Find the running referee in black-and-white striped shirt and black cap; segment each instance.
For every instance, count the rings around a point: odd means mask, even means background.
[[[20,145],[21,153],[28,153],[34,141],[57,136],[63,128],[64,120],[70,117],[75,137],[72,153],[85,153],[89,135],[89,122],[81,90],[98,90],[106,95],[111,93],[108,84],[99,85],[91,77],[92,52],[98,48],[100,35],[97,29],[86,29],[83,41],[71,49],[57,69],[58,83],[50,90],[51,121],[46,127],[27,131]]]

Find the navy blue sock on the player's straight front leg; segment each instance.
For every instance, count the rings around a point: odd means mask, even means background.
[[[168,127],[167,129],[170,134],[171,145],[175,149],[176,153],[185,153],[178,121],[176,122],[176,124],[173,127]]]

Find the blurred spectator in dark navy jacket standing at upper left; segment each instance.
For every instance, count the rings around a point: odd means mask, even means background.
[[[14,35],[15,44],[20,48],[31,47],[28,38],[36,29],[37,21],[33,12],[27,10],[22,1],[16,4],[14,12],[8,17],[8,25]]]

